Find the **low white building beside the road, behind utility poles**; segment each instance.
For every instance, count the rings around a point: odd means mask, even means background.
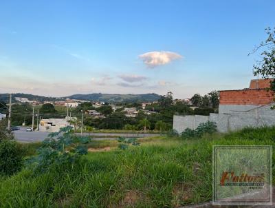
[[[66,126],[74,128],[72,121],[76,120],[76,117],[42,119],[39,123],[39,132],[58,132],[61,127]]]

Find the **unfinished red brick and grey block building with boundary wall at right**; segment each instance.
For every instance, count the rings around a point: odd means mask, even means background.
[[[181,133],[186,128],[195,129],[200,123],[212,121],[219,132],[229,132],[243,127],[275,125],[274,92],[267,91],[273,79],[254,79],[250,87],[241,90],[219,91],[219,114],[209,116],[177,116],[173,128]]]

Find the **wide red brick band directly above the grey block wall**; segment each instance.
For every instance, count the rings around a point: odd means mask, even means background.
[[[265,89],[220,91],[220,105],[267,105],[274,103],[274,94]]]

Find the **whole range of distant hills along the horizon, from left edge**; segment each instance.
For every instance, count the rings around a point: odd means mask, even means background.
[[[4,93],[0,94],[0,101],[8,103],[10,94]],[[151,94],[73,94],[71,96],[65,97],[47,97],[39,96],[33,94],[24,94],[24,93],[15,93],[12,94],[12,102],[16,102],[15,98],[28,98],[29,101],[62,101],[65,98],[76,99],[76,100],[85,100],[85,101],[100,101],[108,103],[120,103],[120,102],[153,102],[157,101],[160,96],[155,93]],[[18,102],[18,101],[17,101]]]

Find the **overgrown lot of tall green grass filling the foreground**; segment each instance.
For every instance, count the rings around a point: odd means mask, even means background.
[[[94,141],[74,166],[0,178],[0,207],[180,207],[212,198],[212,145],[275,145],[275,127],[184,140],[161,136],[118,149]],[[29,147],[32,154],[33,145]],[[274,157],[273,157],[274,158]],[[273,171],[274,172],[274,171]]]

